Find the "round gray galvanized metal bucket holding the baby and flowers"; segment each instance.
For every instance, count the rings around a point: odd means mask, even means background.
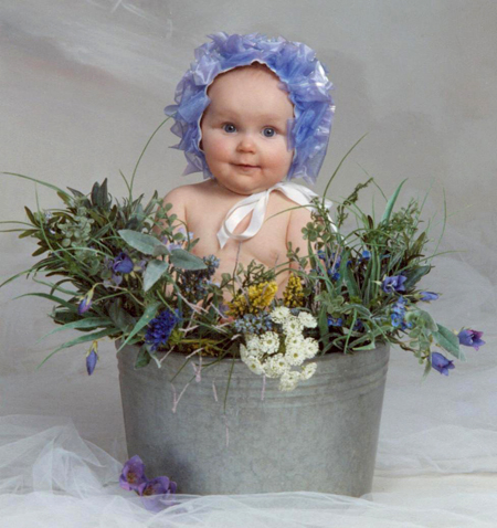
[[[195,495],[371,490],[388,345],[317,358],[314,377],[292,392],[264,386],[241,360],[207,367],[203,358],[199,370],[197,357],[184,366],[170,353],[160,369],[135,370],[137,353],[125,347],[117,357],[128,455],[141,457],[148,478],[167,475]]]

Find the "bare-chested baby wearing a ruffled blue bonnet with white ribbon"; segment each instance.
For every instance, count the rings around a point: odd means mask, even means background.
[[[316,194],[283,180],[315,182],[334,106],[331,83],[304,44],[260,34],[211,38],[178,85],[178,105],[166,108],[189,161],[184,173],[202,170],[205,181],[178,187],[163,202],[200,239],[192,252],[220,260],[219,282],[236,261],[284,264],[289,242],[307,255],[302,229],[310,211],[292,208]],[[278,297],[288,277],[289,271],[277,275]]]

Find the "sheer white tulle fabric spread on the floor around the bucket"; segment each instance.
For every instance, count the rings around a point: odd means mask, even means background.
[[[403,473],[411,475],[440,467],[445,472],[495,472],[496,433],[493,437],[484,432],[474,433],[472,439],[463,434],[456,440],[458,457],[456,450],[451,450],[452,460],[435,453],[432,462],[423,462],[420,455],[424,447],[432,446],[434,441],[451,445],[461,433],[461,429],[442,426],[432,430],[427,437],[406,435],[382,442],[380,466],[399,464],[398,469],[403,467]],[[406,457],[404,450],[403,455],[391,457],[389,447],[394,444],[398,450],[405,445],[404,440],[410,455]],[[467,440],[476,440],[478,445],[468,447]],[[474,456],[476,453],[479,456]],[[463,487],[426,476],[409,493],[399,489],[361,498],[317,493],[182,495],[177,497],[176,505],[152,513],[144,508],[139,497],[119,488],[119,462],[83,441],[71,422],[46,416],[0,419],[0,526],[15,528],[483,527],[495,526],[497,508],[495,481],[488,479],[485,489],[472,486],[469,481]],[[401,465],[409,458],[411,464]]]

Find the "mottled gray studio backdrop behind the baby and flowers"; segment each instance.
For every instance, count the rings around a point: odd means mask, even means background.
[[[496,15],[490,0],[3,0],[0,170],[84,192],[94,181],[108,178],[110,192],[120,198],[126,189],[118,169],[131,173],[141,148],[163,119],[163,107],[173,103],[176,84],[192,61],[193,49],[208,34],[257,31],[305,42],[328,66],[336,86],[328,156],[315,190],[325,189],[341,157],[366,133],[334,181],[331,200],[347,196],[368,175],[387,194],[409,178],[400,203],[423,198],[432,186],[424,218],[433,218],[433,233],[438,234],[445,189],[450,218],[438,251],[463,252],[435,262],[426,289],[444,295],[431,311],[454,329],[484,329],[489,338],[497,264]],[[176,141],[165,127],[150,145],[136,179],[137,191],[147,198],[155,189],[166,194],[178,184],[201,181],[200,173],[181,177],[183,155],[169,148]],[[36,192],[41,209],[60,204],[55,193],[24,180],[1,177],[0,189],[1,220],[24,220],[23,205],[35,209]],[[372,191],[363,192],[362,207],[370,208]],[[381,210],[381,194],[374,194]],[[6,233],[0,247],[3,278],[34,262],[30,256],[34,241]],[[11,300],[32,291],[43,288],[23,278],[0,291],[0,414],[71,416],[83,437],[123,460],[113,347],[101,348],[91,378],[84,347],[59,352],[35,372],[36,365],[70,336],[36,342],[53,329],[50,302]],[[414,358],[404,358],[406,353],[393,353],[389,383],[395,379],[398,384],[417,387],[422,369]],[[426,412],[430,394],[461,394],[468,380],[470,390],[477,391],[480,383],[472,377],[483,369],[491,379],[490,347],[468,355],[469,362],[458,363],[450,378],[434,372],[420,389]],[[495,393],[479,397],[485,419],[459,402],[457,409],[447,406],[444,416],[435,416],[434,423],[473,420],[475,427],[490,419],[495,423],[495,405],[490,408],[487,397],[491,400]],[[395,400],[389,395],[385,400],[384,439]],[[401,429],[413,432],[408,422]]]

